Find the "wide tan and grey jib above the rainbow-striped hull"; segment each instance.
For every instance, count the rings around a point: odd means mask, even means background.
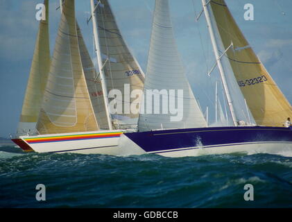
[[[65,0],[37,130],[40,134],[98,130],[83,73],[75,2]]]

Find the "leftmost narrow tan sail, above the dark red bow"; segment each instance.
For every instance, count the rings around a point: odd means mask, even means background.
[[[20,115],[17,133],[34,133],[37,118],[42,105],[42,97],[50,67],[50,46],[49,46],[49,0],[44,1],[46,6],[46,20],[40,21],[33,62],[28,78],[22,114]]]

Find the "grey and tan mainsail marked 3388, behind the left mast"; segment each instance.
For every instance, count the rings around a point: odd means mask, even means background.
[[[135,89],[143,89],[144,73],[123,40],[108,1],[94,1],[94,5],[105,84],[108,93],[112,89],[117,89],[123,98],[114,99],[116,106],[122,107],[123,110],[112,115],[112,119],[119,119],[121,123],[137,123],[139,114],[130,112],[129,107],[132,103],[139,106],[139,99],[131,98],[130,93]]]

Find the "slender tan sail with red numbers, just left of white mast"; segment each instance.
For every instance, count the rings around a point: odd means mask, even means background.
[[[76,24],[81,62],[83,65],[87,89],[96,116],[96,121],[98,123],[99,128],[108,129],[108,122],[106,121],[105,103],[103,100],[101,78],[98,75],[98,73],[96,73],[96,69],[94,69],[94,64],[87,51],[85,42],[83,40],[83,35],[80,31],[77,22]]]

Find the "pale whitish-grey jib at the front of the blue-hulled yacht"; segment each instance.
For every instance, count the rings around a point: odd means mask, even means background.
[[[171,101],[181,100],[183,105],[179,106],[177,104],[177,113],[182,114],[182,119],[180,121],[171,121],[173,114],[171,114],[170,110],[166,113],[162,111],[164,108],[169,108],[170,106],[167,103],[165,106],[163,104],[164,101],[161,102],[160,100],[160,103],[153,105],[152,99],[147,96],[149,89],[157,89],[159,92],[162,92],[162,99],[165,96],[164,94],[169,94],[168,97],[166,95],[169,103]],[[173,96],[170,96],[171,89],[175,90]],[[178,90],[182,90],[182,96],[178,94]],[[155,1],[144,95],[146,97],[144,99],[144,108],[146,108],[146,111],[141,110],[138,123],[139,131],[160,128],[194,128],[207,126],[203,113],[191,91],[187,76],[184,74],[184,69],[178,55],[171,17],[169,15],[168,0]],[[147,112],[149,105],[153,107],[150,110],[151,113]],[[157,107],[160,108],[160,113],[155,114],[155,108]],[[143,111],[145,112],[143,113]]]

